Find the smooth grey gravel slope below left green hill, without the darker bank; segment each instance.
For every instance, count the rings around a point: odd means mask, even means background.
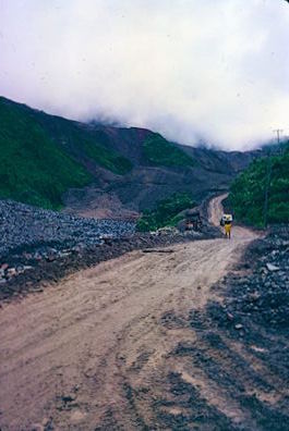
[[[135,224],[127,221],[83,219],[0,200],[0,257],[13,249],[56,243],[69,247],[101,244],[103,236],[131,236]]]

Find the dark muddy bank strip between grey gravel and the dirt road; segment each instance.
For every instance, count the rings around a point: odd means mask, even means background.
[[[118,258],[132,250],[169,247],[193,241],[221,237],[217,230],[208,227],[203,232],[168,233],[161,235],[134,234],[133,236],[106,239],[101,245],[71,248],[69,244],[39,243],[22,246],[2,256],[0,260],[0,304],[20,298],[31,292],[43,292],[64,276],[100,262]],[[59,250],[60,248],[60,250]],[[1,274],[0,274],[1,275]]]

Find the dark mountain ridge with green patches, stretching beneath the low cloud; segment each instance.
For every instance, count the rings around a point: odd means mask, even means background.
[[[7,147],[7,135],[12,128],[13,143],[17,144],[17,150],[26,151],[33,128],[36,127],[41,131],[43,140],[47,141],[46,148],[40,146],[41,139],[37,139],[38,159],[33,160],[37,175],[40,176],[43,164],[46,164],[53,151],[60,151],[65,160],[73,163],[73,168],[69,169],[73,172],[73,177],[69,180],[64,181],[61,172],[58,172],[62,171],[61,167],[58,170],[51,169],[50,174],[47,173],[47,183],[57,190],[56,201],[51,201],[50,197],[43,199],[45,181],[41,190],[38,190],[39,197],[33,198],[35,190],[31,184],[29,170],[21,181],[21,186],[26,183],[29,185],[25,196],[14,196],[8,189],[3,193],[2,185],[0,197],[10,197],[45,208],[64,207],[65,211],[81,216],[136,216],[144,209],[154,208],[159,200],[180,192],[188,192],[193,199],[201,201],[208,194],[228,189],[233,177],[258,156],[257,151],[226,152],[185,147],[170,143],[146,128],[81,123],[47,114],[3,97],[0,97],[0,108],[2,152]],[[8,111],[13,112],[13,124],[5,120]],[[23,124],[26,124],[25,141],[20,133]],[[21,153],[16,151],[13,157],[23,168],[24,159]],[[26,165],[24,168],[27,170]],[[5,163],[0,169],[0,174],[7,175],[9,181],[13,175],[17,176],[17,172],[12,168],[9,171]],[[74,176],[77,176],[77,172],[82,173],[82,181],[75,184]],[[39,188],[37,175],[35,174],[34,181],[36,189]]]

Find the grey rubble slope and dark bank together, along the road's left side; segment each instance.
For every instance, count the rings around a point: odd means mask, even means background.
[[[95,220],[0,200],[0,300],[41,291],[72,271],[133,249],[218,236],[216,229],[137,234],[135,223]]]

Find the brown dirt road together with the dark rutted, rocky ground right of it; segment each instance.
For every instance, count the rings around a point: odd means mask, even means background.
[[[3,431],[287,430],[288,231],[258,236],[135,250],[3,304]]]

